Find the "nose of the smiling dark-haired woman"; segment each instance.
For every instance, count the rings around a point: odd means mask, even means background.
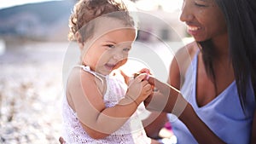
[[[183,1],[182,13],[180,14],[179,20],[187,22],[193,20],[194,15],[192,13],[193,8],[189,5],[189,0]]]

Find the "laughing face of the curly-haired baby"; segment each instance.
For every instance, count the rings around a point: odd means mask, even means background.
[[[131,44],[136,38],[136,30],[119,24],[115,29],[102,32],[102,36],[89,39],[92,43],[86,50],[83,62],[95,72],[108,75],[127,61]],[[98,32],[99,33],[99,32]]]

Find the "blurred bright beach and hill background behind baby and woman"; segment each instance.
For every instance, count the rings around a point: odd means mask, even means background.
[[[141,18],[143,31],[135,47],[141,43],[153,46],[165,66],[191,40],[178,20],[182,2],[133,0],[139,12],[158,19]],[[58,143],[63,61],[70,47],[68,17],[74,3],[0,0],[0,143]],[[163,42],[168,43],[171,55],[162,50]]]

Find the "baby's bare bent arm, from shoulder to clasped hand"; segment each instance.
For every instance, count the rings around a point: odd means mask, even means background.
[[[131,82],[125,98],[114,107],[105,107],[95,77],[88,72],[74,72],[67,85],[73,109],[84,130],[95,139],[104,138],[118,130],[137,110],[137,105],[151,93],[151,85],[140,75]],[[80,82],[80,83],[79,83]]]

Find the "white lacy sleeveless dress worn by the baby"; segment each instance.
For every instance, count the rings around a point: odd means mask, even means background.
[[[84,68],[84,71],[91,72],[90,68]],[[115,106],[125,95],[127,86],[123,79],[116,76],[106,76],[107,90],[103,96],[106,107]],[[79,119],[73,109],[69,107],[67,98],[64,96],[62,103],[63,116],[63,137],[67,144],[148,144],[150,139],[147,137],[138,112],[135,112],[126,123],[112,135],[104,139],[92,139],[82,128]]]

